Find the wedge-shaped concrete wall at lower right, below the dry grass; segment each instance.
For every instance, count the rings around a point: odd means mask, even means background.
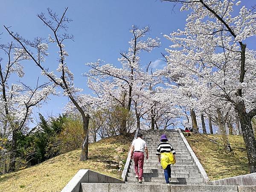
[[[242,186],[256,185],[256,173],[239,175],[236,177],[230,177],[230,178],[225,178],[220,180],[208,181],[207,185],[242,185]]]

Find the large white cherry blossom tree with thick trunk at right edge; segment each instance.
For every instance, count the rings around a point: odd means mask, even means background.
[[[178,30],[166,38],[174,44],[167,49],[176,55],[180,65],[211,84],[212,96],[233,104],[239,114],[246,145],[250,172],[256,172],[256,140],[251,119],[256,115],[254,51],[245,41],[255,37],[254,9],[241,7],[233,15],[236,0],[166,0],[182,3],[181,10],[191,10],[184,31]],[[176,49],[176,50],[174,50]]]

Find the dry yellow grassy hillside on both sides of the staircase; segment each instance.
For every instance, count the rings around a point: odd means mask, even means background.
[[[186,139],[204,166],[210,180],[233,177],[249,173],[247,155],[242,136],[229,136],[232,152],[226,152],[220,135],[185,134]],[[79,160],[81,150],[77,149],[54,157],[44,163],[0,176],[1,192],[49,192],[61,191],[79,169],[91,169],[112,177],[121,178],[122,172],[109,172],[105,160],[119,155],[125,163],[131,144],[131,137],[109,137],[89,145],[89,160]],[[115,149],[125,151],[117,154]]]

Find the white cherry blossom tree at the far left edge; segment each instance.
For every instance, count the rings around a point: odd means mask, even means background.
[[[28,131],[27,124],[32,121],[32,109],[35,106],[40,107],[50,94],[55,94],[55,88],[49,83],[40,85],[39,81],[35,88],[22,82],[11,83],[11,76],[15,74],[20,78],[24,76],[20,61],[31,58],[23,49],[16,48],[13,42],[1,44],[0,50],[4,55],[0,57],[0,136],[3,140],[11,140],[7,152],[10,160],[9,171],[12,172],[15,171],[18,132]],[[3,154],[3,150],[6,149],[2,146],[0,154]],[[6,159],[6,157],[2,158]]]

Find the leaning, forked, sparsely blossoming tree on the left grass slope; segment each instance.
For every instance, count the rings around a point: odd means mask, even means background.
[[[22,50],[26,52],[32,61],[41,69],[41,74],[46,76],[52,81],[57,87],[63,90],[63,95],[67,96],[76,106],[79,113],[81,113],[83,119],[84,129],[84,141],[81,150],[81,160],[88,159],[88,125],[90,116],[87,111],[84,111],[83,107],[79,105],[79,92],[82,89],[75,87],[73,83],[73,73],[69,70],[68,64],[66,63],[66,57],[69,56],[65,49],[64,42],[67,40],[73,40],[73,35],[67,34],[68,23],[72,20],[66,17],[67,9],[62,13],[61,16],[53,12],[51,9],[47,9],[48,18],[44,13],[38,14],[38,18],[44,23],[49,29],[52,35],[48,36],[48,41],[44,38],[35,38],[33,41],[26,40],[21,37],[18,33],[13,33],[8,27],[5,26],[6,30],[22,47]],[[53,71],[49,71],[49,68],[44,67],[45,57],[49,55],[48,44],[55,44],[58,47],[58,68],[57,74]],[[33,52],[34,51],[34,52]],[[59,75],[59,77],[58,77]],[[90,105],[90,103],[88,103]]]

